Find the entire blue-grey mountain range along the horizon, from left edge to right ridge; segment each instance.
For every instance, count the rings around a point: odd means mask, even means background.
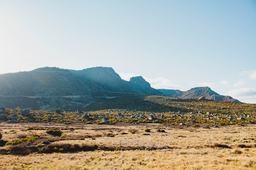
[[[131,77],[130,81],[122,80],[111,67],[83,70],[44,67],[0,74],[0,107],[54,110],[87,107],[91,103],[96,103],[94,106],[98,107],[102,97],[132,94],[179,98],[204,96],[211,100],[240,102],[230,96],[219,95],[209,87],[196,87],[188,91],[154,89],[142,76]]]

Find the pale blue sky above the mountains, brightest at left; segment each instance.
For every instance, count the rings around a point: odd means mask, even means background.
[[[0,0],[0,74],[112,67],[256,103],[255,0]]]

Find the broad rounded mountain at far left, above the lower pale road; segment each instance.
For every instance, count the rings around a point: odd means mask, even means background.
[[[87,85],[71,72],[59,68],[0,75],[1,96],[91,95]]]

